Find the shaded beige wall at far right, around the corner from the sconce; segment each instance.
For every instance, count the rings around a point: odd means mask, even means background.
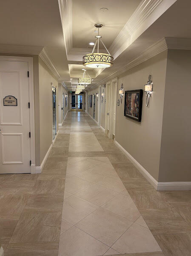
[[[191,181],[189,50],[168,50],[159,181]]]

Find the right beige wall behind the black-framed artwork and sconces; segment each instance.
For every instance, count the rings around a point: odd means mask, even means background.
[[[150,106],[145,106],[145,92],[143,92],[142,120],[140,123],[124,116],[124,97],[123,103],[117,106],[116,141],[157,180],[160,163],[166,63],[167,51],[120,75],[117,83],[118,99],[120,98],[118,90],[122,83],[124,90],[144,90],[148,75],[152,75],[154,85]]]

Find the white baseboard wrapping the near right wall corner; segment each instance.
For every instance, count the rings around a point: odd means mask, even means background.
[[[157,191],[162,190],[191,190],[191,182],[158,182],[145,168],[137,162],[116,140],[115,145],[120,148],[120,150],[125,153],[127,158],[132,162],[132,164],[143,174],[143,176],[154,186]]]

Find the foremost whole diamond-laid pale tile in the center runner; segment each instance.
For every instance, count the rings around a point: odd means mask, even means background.
[[[98,208],[75,226],[111,247],[132,224],[119,215]]]

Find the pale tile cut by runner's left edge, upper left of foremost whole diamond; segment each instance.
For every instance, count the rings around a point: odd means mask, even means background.
[[[80,197],[71,196],[64,200],[62,218],[74,225],[97,208],[98,206]]]

